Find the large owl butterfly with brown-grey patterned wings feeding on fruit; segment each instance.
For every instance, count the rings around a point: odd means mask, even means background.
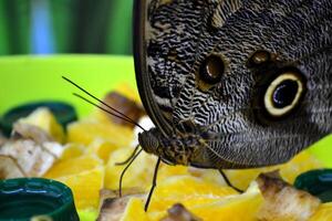
[[[277,165],[332,131],[331,0],[136,0],[137,86],[170,165]]]

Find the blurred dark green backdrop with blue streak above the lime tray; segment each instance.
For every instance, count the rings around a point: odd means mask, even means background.
[[[133,0],[0,0],[0,55],[132,53]]]

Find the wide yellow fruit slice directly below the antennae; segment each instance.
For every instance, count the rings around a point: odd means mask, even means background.
[[[117,147],[127,147],[133,140],[131,128],[112,124],[101,123],[96,119],[86,118],[75,122],[68,127],[68,141],[89,146],[95,139],[107,140]]]

